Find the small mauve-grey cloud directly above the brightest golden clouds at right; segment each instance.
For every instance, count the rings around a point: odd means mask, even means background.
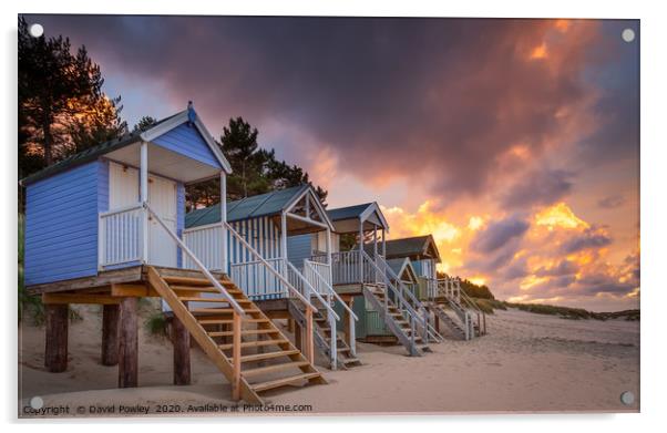
[[[521,178],[501,198],[506,208],[551,205],[572,189],[572,173],[560,169],[536,169]]]

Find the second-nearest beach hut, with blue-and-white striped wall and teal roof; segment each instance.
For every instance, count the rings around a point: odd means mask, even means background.
[[[244,238],[227,245],[227,266],[232,279],[271,318],[287,319],[295,327],[297,347],[305,331],[302,308],[290,300],[283,280],[289,281],[319,311],[314,318],[316,348],[329,361],[329,367],[347,368],[359,363],[356,344],[338,336],[335,312],[338,295],[331,286],[330,252],[334,226],[315,189],[309,185],[295,186],[267,194],[246,197],[227,204],[227,221]],[[196,209],[185,217],[185,243],[213,269],[222,269],[219,237],[220,206]],[[322,260],[289,260],[288,244],[295,237],[321,239]],[[248,254],[249,244],[269,264],[275,274],[261,266],[260,259]],[[191,267],[192,264],[185,264]],[[283,279],[278,278],[279,276]],[[353,321],[352,316],[346,316]],[[349,323],[346,323],[347,327]],[[331,336],[336,336],[334,339]]]

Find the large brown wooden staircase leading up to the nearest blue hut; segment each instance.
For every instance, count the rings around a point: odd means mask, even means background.
[[[232,308],[204,274],[201,278],[163,276],[148,267],[147,280],[233,384],[233,396],[261,404],[259,394],[268,390],[327,383],[312,362],[227,277],[219,282],[243,308],[245,317]],[[188,309],[187,302],[206,303]]]

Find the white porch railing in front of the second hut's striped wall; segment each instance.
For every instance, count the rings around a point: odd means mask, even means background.
[[[268,265],[277,274],[267,268]],[[287,276],[286,260],[274,259],[244,261],[229,265],[229,275],[234,282],[252,299],[285,298],[287,285],[280,276]]]

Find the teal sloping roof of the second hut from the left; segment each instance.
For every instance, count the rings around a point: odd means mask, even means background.
[[[227,203],[227,221],[232,223],[249,218],[280,215],[308,190],[315,194],[312,187],[309,185],[300,185],[242,198],[236,202],[229,202]],[[196,209],[185,215],[185,228],[206,226],[219,221],[220,205]],[[329,224],[330,221],[324,223]]]

